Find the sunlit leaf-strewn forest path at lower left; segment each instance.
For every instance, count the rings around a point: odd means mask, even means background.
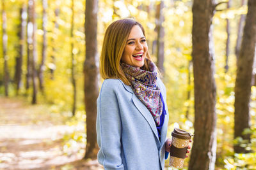
[[[0,97],[0,169],[100,170],[97,160],[84,161],[84,145],[63,151],[63,136],[77,131],[67,117],[45,105]],[[81,129],[80,129],[81,130]]]

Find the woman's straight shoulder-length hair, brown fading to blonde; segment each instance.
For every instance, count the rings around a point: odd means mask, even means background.
[[[142,25],[139,22],[129,18],[116,20],[115,22],[112,22],[112,24],[110,24],[106,29],[100,55],[100,75],[103,79],[119,78],[126,85],[130,85],[129,81],[125,77],[124,71],[122,71],[120,61],[124,52],[127,38],[134,25],[140,26],[145,36],[145,31]],[[148,60],[152,61],[148,52],[146,56]],[[143,68],[148,70],[146,61]]]

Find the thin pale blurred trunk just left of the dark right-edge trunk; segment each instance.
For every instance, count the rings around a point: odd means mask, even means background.
[[[246,5],[246,1],[242,0],[241,6]],[[236,39],[236,48],[235,48],[235,53],[236,53],[236,59],[239,57],[239,51],[241,48],[241,39],[243,36],[243,28],[244,28],[244,21],[245,21],[245,15],[241,15],[239,23],[238,23],[238,31],[237,31],[237,39]]]

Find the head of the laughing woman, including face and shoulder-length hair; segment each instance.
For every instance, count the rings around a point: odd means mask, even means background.
[[[136,57],[140,53],[143,53],[143,56]],[[134,58],[134,62],[136,61],[135,58],[138,59],[137,61],[141,62],[140,66],[133,65],[131,63],[132,58]],[[144,66],[148,71],[148,64],[144,62],[146,58],[150,62],[152,61],[147,50],[145,31],[140,23],[135,20],[124,19],[117,20],[109,25],[105,32],[100,56],[100,74],[102,78],[119,78],[126,85],[130,85],[131,83],[125,77],[120,63],[129,61],[127,64],[135,67]],[[157,73],[159,73],[158,69]]]

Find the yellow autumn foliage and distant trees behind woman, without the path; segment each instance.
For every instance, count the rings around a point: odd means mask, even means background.
[[[90,2],[93,5],[97,1]],[[34,3],[35,6],[28,8]],[[1,1],[1,97],[19,97],[32,104],[44,104],[50,114],[64,117],[65,124],[82,125],[85,131],[74,131],[63,137],[63,150],[68,154],[68,148],[82,143],[77,153],[83,155],[87,136],[95,133],[93,126],[87,124],[86,127],[86,70],[95,73],[99,89],[102,83],[97,71],[85,69],[88,62],[86,52],[93,45],[97,47],[93,60],[95,66],[99,67],[99,53],[106,27],[114,20],[134,17],[144,26],[149,52],[163,73],[170,113],[168,136],[171,136],[174,127],[193,133],[196,88],[191,54],[193,1],[100,0],[97,15],[92,17],[97,23],[96,43],[86,41],[86,3],[85,0],[53,0],[48,3],[47,0]],[[248,103],[250,111],[244,113],[250,117],[250,128],[243,130],[243,134],[250,134],[250,142],[243,138],[234,139],[237,56],[248,5],[244,0],[215,3],[218,4],[212,17],[212,62],[215,67],[212,74],[216,81],[215,168],[256,169],[256,88],[253,86],[253,76],[251,101]],[[88,27],[87,31],[90,31]],[[89,43],[92,46],[90,49]],[[255,72],[253,67],[252,74]],[[234,145],[241,146],[243,152],[235,152]],[[93,159],[95,154],[84,158]],[[189,159],[186,159],[188,164]]]

